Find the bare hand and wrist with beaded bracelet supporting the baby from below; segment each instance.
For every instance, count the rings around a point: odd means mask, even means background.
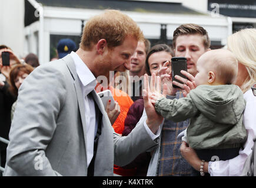
[[[188,146],[188,143],[182,142],[181,147],[179,148],[181,155],[185,160],[197,171],[200,171],[201,159],[195,153],[195,150]],[[204,172],[208,173],[208,162],[204,163]]]

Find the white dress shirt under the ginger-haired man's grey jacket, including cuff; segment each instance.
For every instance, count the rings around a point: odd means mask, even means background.
[[[85,65],[82,59],[77,55],[75,52],[71,52],[70,55],[72,56],[75,62],[75,68],[77,70],[77,75],[79,78],[80,87],[82,90],[82,95],[84,98],[84,105],[85,105],[85,122],[87,126],[87,167],[89,166],[92,157],[94,155],[94,138],[97,133],[98,128],[98,120],[96,119],[95,115],[95,105],[92,96],[88,96],[88,94],[94,90],[95,86],[97,85],[96,78],[92,74],[91,70]],[[151,132],[147,123],[144,123],[145,129],[147,130],[149,136],[151,136],[152,140],[155,140],[159,135],[160,131],[156,135]]]

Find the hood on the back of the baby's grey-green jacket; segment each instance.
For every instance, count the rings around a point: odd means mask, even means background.
[[[236,124],[245,108],[242,90],[236,85],[200,85],[189,95],[197,109],[217,123]]]

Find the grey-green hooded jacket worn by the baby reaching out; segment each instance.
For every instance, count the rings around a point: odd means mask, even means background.
[[[200,85],[187,98],[161,98],[155,110],[174,122],[190,118],[187,139],[194,149],[241,147],[247,139],[242,124],[245,100],[236,85]]]

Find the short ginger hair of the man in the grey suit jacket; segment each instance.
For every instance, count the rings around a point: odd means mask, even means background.
[[[108,47],[112,48],[121,45],[128,35],[134,36],[137,41],[144,38],[139,26],[129,16],[117,10],[107,10],[87,21],[80,48],[91,50],[100,39],[106,39]]]

